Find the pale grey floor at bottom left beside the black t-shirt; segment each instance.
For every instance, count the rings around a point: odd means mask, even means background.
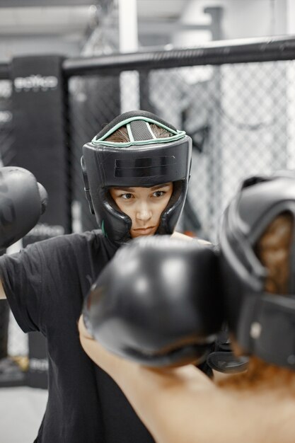
[[[33,443],[46,402],[44,389],[0,388],[1,443]]]

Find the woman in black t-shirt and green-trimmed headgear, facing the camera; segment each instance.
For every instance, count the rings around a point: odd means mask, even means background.
[[[114,141],[122,131],[127,140]],[[185,132],[144,111],[120,115],[83,146],[86,196],[102,232],[50,238],[0,258],[1,297],[25,332],[38,330],[47,338],[49,396],[36,442],[154,441],[122,391],[83,351],[77,322],[91,284],[123,243],[173,234],[190,161]],[[13,180],[6,194],[11,188]],[[1,229],[15,225],[7,226]]]

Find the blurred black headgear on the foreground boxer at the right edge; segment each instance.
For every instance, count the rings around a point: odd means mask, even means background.
[[[294,233],[287,260],[288,294],[267,292],[265,282],[271,275],[255,254],[270,223],[286,213],[291,214],[290,229],[294,229],[293,174],[245,180],[224,213],[219,233],[220,263],[226,319],[243,352],[295,369]]]

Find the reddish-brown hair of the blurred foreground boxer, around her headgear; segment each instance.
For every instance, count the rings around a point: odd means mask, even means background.
[[[265,229],[255,246],[255,254],[267,268],[265,290],[270,294],[288,294],[290,275],[290,245],[294,220],[289,212],[279,214]],[[274,297],[279,297],[274,295]],[[233,344],[233,347],[235,345]],[[295,372],[291,369],[268,364],[251,356],[248,370],[219,381],[221,387],[233,389],[286,386],[295,396]]]

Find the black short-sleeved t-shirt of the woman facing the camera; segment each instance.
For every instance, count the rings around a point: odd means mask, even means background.
[[[39,330],[47,338],[48,403],[35,442],[154,442],[117,384],[79,341],[83,299],[115,252],[107,238],[91,231],[33,243],[0,258],[16,321],[25,332]]]

